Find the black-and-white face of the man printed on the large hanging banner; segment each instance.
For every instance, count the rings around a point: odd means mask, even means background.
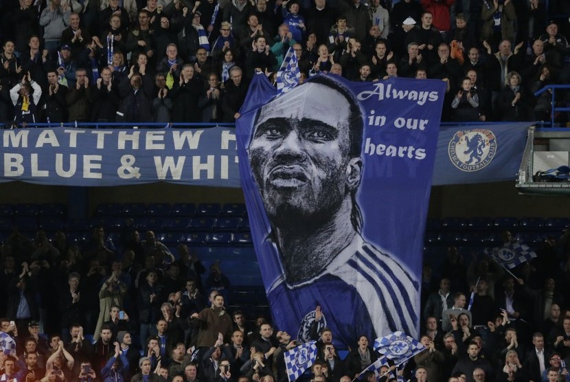
[[[355,162],[360,179],[361,159],[348,157],[349,121],[346,98],[321,84],[263,106],[249,160],[271,218],[328,218],[339,209]]]

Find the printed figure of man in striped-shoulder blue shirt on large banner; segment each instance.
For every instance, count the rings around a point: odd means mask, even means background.
[[[247,153],[271,223],[264,256],[276,254],[283,270],[267,295],[273,316],[287,317],[277,326],[300,324],[299,339],[309,337],[315,302],[328,316],[320,322],[344,344],[359,335],[415,333],[418,283],[361,234],[363,128],[355,96],[330,76],[269,102],[253,122]],[[284,301],[295,307],[276,303]]]

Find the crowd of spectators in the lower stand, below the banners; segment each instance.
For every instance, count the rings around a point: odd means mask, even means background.
[[[437,280],[424,264],[418,340],[426,349],[394,373],[417,382],[569,381],[568,243],[545,240],[516,278],[455,247]],[[292,335],[263,315],[227,311],[230,280],[219,263],[205,275],[186,245],[176,252],[134,228],[116,248],[102,227],[81,248],[64,232],[53,240],[14,232],[1,246],[0,381],[287,381]],[[326,314],[316,306],[310,378],[350,382],[376,360],[374,339],[354,338],[346,354],[320,326]]]

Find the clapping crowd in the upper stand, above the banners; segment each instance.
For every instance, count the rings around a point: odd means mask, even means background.
[[[564,11],[565,1],[553,1]],[[565,25],[543,0],[19,0],[1,5],[0,121],[235,122],[292,47],[301,81],[448,82],[443,120],[548,120]],[[556,8],[558,7],[558,8]],[[563,20],[563,19],[562,19]],[[566,102],[566,93],[558,99]]]

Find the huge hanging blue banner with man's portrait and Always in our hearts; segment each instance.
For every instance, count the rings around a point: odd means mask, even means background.
[[[240,177],[280,330],[308,341],[328,327],[350,346],[418,333],[444,91],[438,80],[331,74],[275,98],[254,76],[236,126]]]

